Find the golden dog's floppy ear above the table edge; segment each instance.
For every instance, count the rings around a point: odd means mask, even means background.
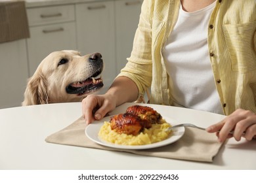
[[[49,103],[49,97],[47,93],[47,80],[41,75],[32,76],[28,80],[22,106],[47,103]]]

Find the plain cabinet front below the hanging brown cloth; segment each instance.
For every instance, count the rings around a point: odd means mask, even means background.
[[[0,44],[0,58],[0,108],[20,106],[28,78],[25,39]]]

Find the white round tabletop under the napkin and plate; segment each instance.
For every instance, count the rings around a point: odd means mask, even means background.
[[[224,116],[158,105],[163,116],[202,127]],[[113,113],[113,112],[112,112]],[[213,163],[139,156],[45,142],[81,116],[81,103],[0,109],[0,169],[256,169],[256,141],[228,140]]]

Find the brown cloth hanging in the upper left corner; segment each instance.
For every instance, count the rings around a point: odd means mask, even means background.
[[[0,1],[0,42],[30,37],[25,1]]]

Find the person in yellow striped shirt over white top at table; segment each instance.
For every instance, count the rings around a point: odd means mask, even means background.
[[[151,87],[150,103],[226,115],[207,128],[220,142],[233,129],[236,141],[253,139],[255,9],[255,0],[145,0],[126,66],[108,92],[82,101],[87,124]]]

